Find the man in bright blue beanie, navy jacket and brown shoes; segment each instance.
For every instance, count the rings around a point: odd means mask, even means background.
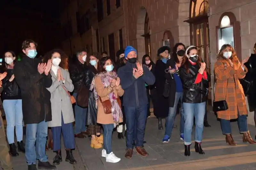
[[[125,66],[118,69],[120,84],[124,89],[124,113],[126,118],[126,147],[125,158],[132,158],[133,133],[137,126],[135,138],[136,153],[141,156],[148,156],[143,148],[143,139],[148,114],[148,97],[145,83],[153,85],[155,76],[148,67],[137,62],[137,51],[132,46],[124,50],[124,57],[127,60]],[[135,125],[136,123],[136,125]]]

